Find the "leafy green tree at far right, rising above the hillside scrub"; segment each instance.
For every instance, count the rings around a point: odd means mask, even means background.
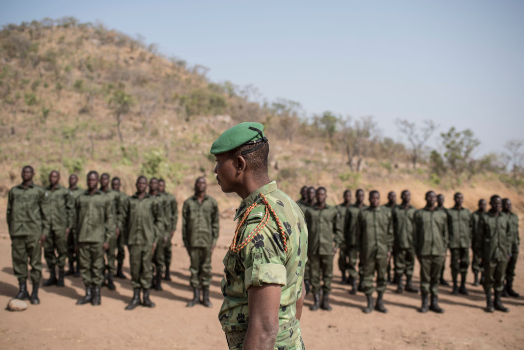
[[[471,129],[465,129],[462,132],[457,131],[455,127],[448,130],[447,133],[441,133],[442,144],[444,145],[444,161],[446,166],[453,172],[457,183],[468,165],[473,160],[473,151],[481,144]]]

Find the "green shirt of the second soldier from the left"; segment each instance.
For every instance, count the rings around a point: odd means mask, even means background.
[[[58,185],[54,190],[51,186],[46,187],[45,197],[49,204],[49,229],[54,231],[65,231],[73,228],[74,199],[71,191]],[[45,233],[46,236],[48,233]]]

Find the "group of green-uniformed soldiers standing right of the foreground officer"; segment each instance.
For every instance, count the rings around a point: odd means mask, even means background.
[[[308,264],[304,282],[307,292],[311,289],[314,303],[311,310],[331,310],[329,294],[333,277],[333,256],[340,250],[339,268],[342,282],[352,286],[351,294],[364,292],[367,298],[365,313],[372,312],[372,293],[377,291],[375,310],[386,313],[384,291],[391,282],[391,258],[394,257],[394,279],[397,293],[405,289],[418,293],[413,286],[415,258],[420,263],[422,306],[442,313],[439,307],[439,284],[448,285],[443,278],[444,263],[451,251],[452,294],[468,294],[467,269],[470,265],[470,247],[473,250],[472,269],[474,286],[482,283],[486,293],[486,311],[508,312],[501,303],[501,296],[518,297],[512,289],[518,256],[518,216],[511,212],[511,201],[494,195],[491,209],[486,211],[486,201],[478,202],[478,210],[471,213],[463,207],[464,196],[455,193],[454,206],[444,207],[444,196],[433,191],[425,194],[426,205],[417,210],[410,204],[411,194],[402,191],[401,204],[396,203],[395,192],[388,193],[388,203],[379,205],[380,194],[369,192],[369,205],[364,204],[364,190],[343,193],[343,203],[326,204],[326,189],[304,186],[297,201],[308,225]],[[357,270],[358,260],[358,270]],[[346,275],[347,273],[347,275]],[[376,273],[376,288],[373,279]],[[479,279],[479,274],[481,278]],[[402,277],[406,276],[406,285]],[[461,277],[460,286],[458,277]],[[357,278],[359,279],[357,287]],[[320,298],[321,279],[322,301]],[[492,298],[492,290],[495,298]],[[431,302],[429,303],[429,294]]]

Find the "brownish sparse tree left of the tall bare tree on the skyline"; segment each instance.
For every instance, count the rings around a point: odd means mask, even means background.
[[[373,116],[362,117],[352,123],[351,116],[340,118],[340,136],[351,171],[360,171],[368,155],[369,145],[377,133]]]

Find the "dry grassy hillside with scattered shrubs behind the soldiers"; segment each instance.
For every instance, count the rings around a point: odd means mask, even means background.
[[[74,172],[85,187],[84,174],[95,169],[121,177],[127,193],[134,191],[138,174],[160,176],[179,201],[203,175],[228,216],[237,198],[216,186],[209,148],[224,129],[258,121],[270,140],[270,176],[294,196],[303,184],[328,188],[331,203],[340,201],[345,188],[378,189],[383,199],[389,190],[409,188],[420,206],[423,193],[434,188],[451,205],[451,182],[435,181],[424,164],[412,170],[405,146],[369,138],[363,145],[365,166],[353,172],[334,129],[305,121],[293,102],[253,102],[252,89],[210,82],[205,70],[73,18],[6,26],[0,31],[3,203],[7,190],[20,181],[21,166],[29,163],[38,183],[58,169],[63,184]],[[457,189],[470,207],[480,196],[498,192],[524,209],[496,173],[477,174]]]

